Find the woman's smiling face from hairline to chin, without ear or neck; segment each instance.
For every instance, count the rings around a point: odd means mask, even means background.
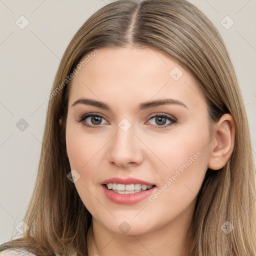
[[[105,47],[91,56],[72,80],[66,123],[81,200],[94,221],[117,233],[186,225],[210,155],[195,80],[151,48]]]

